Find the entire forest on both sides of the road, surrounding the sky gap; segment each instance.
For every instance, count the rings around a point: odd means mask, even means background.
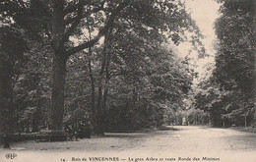
[[[0,134],[83,121],[103,135],[184,117],[256,126],[255,2],[218,2],[215,63],[199,79],[172,49],[187,41],[208,57],[181,0],[2,0]]]

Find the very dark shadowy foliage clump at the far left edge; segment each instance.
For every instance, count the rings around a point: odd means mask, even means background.
[[[17,27],[0,27],[0,132],[13,132],[14,84],[22,73],[19,67],[26,62],[27,42]]]

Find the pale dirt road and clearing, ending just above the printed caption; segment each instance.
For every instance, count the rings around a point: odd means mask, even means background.
[[[214,150],[255,150],[255,128],[210,128],[198,126],[162,127],[141,133],[105,133],[102,136],[93,135],[78,141],[43,142],[25,140],[11,143],[12,150],[36,151],[122,151],[142,149],[156,152],[183,152],[184,149],[207,151]],[[0,149],[1,150],[1,149]],[[146,151],[146,152],[147,152]]]

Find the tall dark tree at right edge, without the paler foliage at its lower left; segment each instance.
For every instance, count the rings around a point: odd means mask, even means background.
[[[229,91],[228,116],[246,118],[255,111],[255,1],[222,3],[223,15],[216,22],[219,47],[214,77],[222,90]]]

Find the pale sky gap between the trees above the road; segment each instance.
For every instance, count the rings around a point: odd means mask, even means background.
[[[202,76],[204,75],[203,67],[207,63],[214,62],[214,41],[216,39],[214,23],[220,17],[218,12],[220,4],[214,0],[185,0],[185,4],[188,12],[191,13],[192,19],[196,21],[197,26],[205,36],[203,43],[207,53],[212,55],[212,57],[205,59],[198,59],[196,51],[189,55],[190,58],[195,60],[196,65],[198,66],[196,71]],[[188,54],[190,47],[189,43],[181,43],[177,46],[178,53],[184,57]]]

